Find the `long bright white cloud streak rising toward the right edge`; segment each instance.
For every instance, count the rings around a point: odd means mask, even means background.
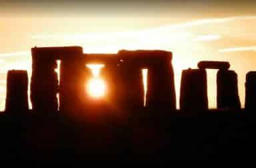
[[[35,40],[63,40],[63,41],[76,41],[76,42],[93,42],[93,41],[119,41],[119,38],[139,38],[147,39],[151,36],[166,38],[175,37],[175,36],[184,36],[185,33],[189,34],[191,32],[183,31],[183,28],[197,27],[202,25],[211,25],[216,23],[227,23],[237,20],[251,20],[255,19],[256,16],[235,16],[235,17],[223,17],[223,18],[209,18],[209,19],[199,19],[195,21],[188,21],[184,23],[177,24],[167,24],[161,27],[154,27],[150,29],[142,29],[139,31],[121,31],[121,32],[112,32],[112,33],[85,33],[85,34],[35,34],[32,35],[32,39]],[[192,33],[191,33],[192,34]],[[251,33],[250,33],[251,34]],[[188,36],[188,35],[186,35]],[[205,37],[198,37],[197,41],[212,41],[217,40],[220,37],[218,35],[207,35]],[[13,53],[15,54],[15,53]],[[18,54],[18,53],[16,53]],[[1,56],[1,55],[0,55]]]

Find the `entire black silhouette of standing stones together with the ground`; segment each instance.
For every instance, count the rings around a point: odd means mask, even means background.
[[[202,61],[198,69],[183,70],[177,110],[172,52],[87,54],[80,46],[35,47],[31,52],[33,107],[26,115],[21,111],[27,110],[27,72],[7,74],[6,113],[0,114],[1,159],[164,163],[169,159],[241,159],[248,157],[246,149],[253,148],[255,121],[242,113],[237,74],[229,70],[229,62]],[[57,60],[61,60],[60,81]],[[86,64],[104,64],[99,78],[105,80],[107,92],[102,98],[92,98],[85,91],[93,78]],[[145,107],[143,68],[148,70]],[[206,68],[219,70],[218,110],[208,109]],[[254,79],[255,72],[249,72],[245,108],[251,112]]]

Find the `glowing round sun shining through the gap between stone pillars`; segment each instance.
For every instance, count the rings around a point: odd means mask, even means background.
[[[92,78],[87,83],[87,92],[92,98],[102,98],[105,96],[106,84],[100,78]]]

